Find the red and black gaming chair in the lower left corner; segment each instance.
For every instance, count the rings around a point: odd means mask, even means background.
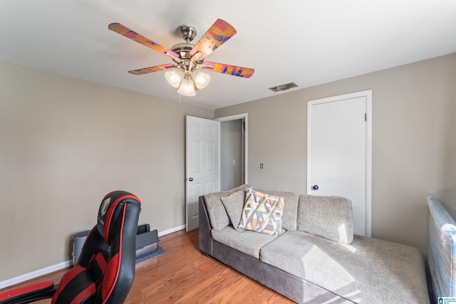
[[[106,194],[97,224],[87,236],[78,262],[60,285],[34,285],[0,294],[0,304],[31,303],[51,298],[52,304],[123,303],[135,278],[136,233],[141,201],[133,194]],[[44,284],[44,285],[43,285]]]

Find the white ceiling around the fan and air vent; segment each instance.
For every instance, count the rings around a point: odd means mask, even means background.
[[[212,109],[456,52],[455,0],[0,0],[0,60],[179,100],[164,72],[127,73],[171,59],[108,24],[171,48],[181,24],[197,28],[196,42],[216,19],[237,34],[207,60],[255,73],[210,73],[207,88],[181,97]]]

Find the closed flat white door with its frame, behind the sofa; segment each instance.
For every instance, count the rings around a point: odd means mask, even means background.
[[[351,199],[355,234],[371,236],[371,91],[308,103],[307,194]]]

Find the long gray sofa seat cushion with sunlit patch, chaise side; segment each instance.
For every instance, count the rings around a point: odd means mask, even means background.
[[[348,245],[287,231],[260,256],[355,303],[429,303],[423,255],[410,246],[363,236]]]

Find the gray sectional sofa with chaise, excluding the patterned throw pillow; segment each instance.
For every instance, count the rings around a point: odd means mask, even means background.
[[[353,235],[348,199],[255,189],[284,198],[280,231],[264,234],[238,228],[248,188],[199,197],[203,254],[297,303],[430,303],[423,254]]]

